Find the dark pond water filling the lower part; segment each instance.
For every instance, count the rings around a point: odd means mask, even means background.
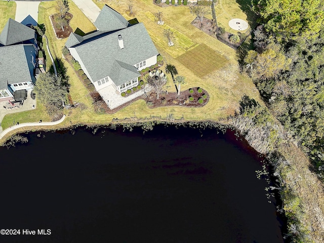
[[[74,131],[0,147],[0,229],[20,229],[0,242],[284,242],[262,158],[234,132]]]

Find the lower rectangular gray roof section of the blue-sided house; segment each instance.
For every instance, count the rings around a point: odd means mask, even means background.
[[[0,47],[0,73],[0,90],[8,84],[31,81],[24,45]]]

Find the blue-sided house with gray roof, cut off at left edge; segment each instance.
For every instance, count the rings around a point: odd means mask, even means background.
[[[9,19],[0,33],[0,101],[21,101],[22,91],[33,89],[36,55],[35,30]]]

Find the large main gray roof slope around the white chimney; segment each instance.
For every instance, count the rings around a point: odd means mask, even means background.
[[[117,37],[119,34],[123,37],[124,49],[119,48]],[[113,69],[115,60],[135,65],[158,55],[143,23],[132,25],[96,39],[88,39],[74,48],[94,82],[107,75],[113,75],[112,73],[115,72]],[[128,74],[123,76],[123,73],[120,73],[118,80],[124,79],[125,82],[130,80]],[[113,82],[117,81],[113,80]]]

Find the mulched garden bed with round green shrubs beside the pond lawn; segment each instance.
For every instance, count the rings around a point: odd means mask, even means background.
[[[156,108],[160,106],[185,106],[185,107],[201,107],[207,104],[209,101],[209,94],[206,90],[194,87],[185,91],[181,91],[178,96],[177,93],[161,94],[159,99],[156,99],[156,94],[151,92],[148,97],[145,98],[146,104],[150,108]]]

